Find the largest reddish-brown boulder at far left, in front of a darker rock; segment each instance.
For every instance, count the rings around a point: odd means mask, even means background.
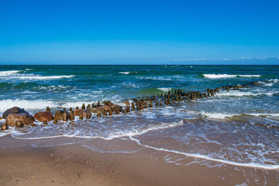
[[[9,114],[6,118],[6,124],[10,127],[15,127],[19,121],[22,125],[33,125],[35,118],[26,112],[22,112],[20,114]]]

